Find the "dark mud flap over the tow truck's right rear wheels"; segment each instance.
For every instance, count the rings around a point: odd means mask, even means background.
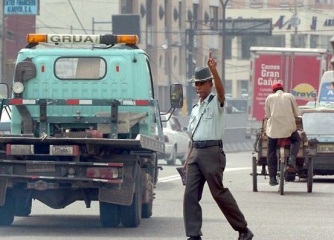
[[[126,167],[123,183],[114,188],[100,188],[99,201],[130,206],[135,191],[135,179],[138,166]]]

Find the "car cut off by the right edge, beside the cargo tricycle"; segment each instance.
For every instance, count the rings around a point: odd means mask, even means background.
[[[302,109],[301,114],[309,149],[313,149],[313,174],[334,175],[334,108]]]

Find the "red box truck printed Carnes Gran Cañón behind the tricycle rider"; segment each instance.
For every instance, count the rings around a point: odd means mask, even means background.
[[[273,83],[280,82],[298,105],[317,98],[331,53],[325,49],[251,47],[247,138],[255,138],[264,118],[264,104]]]

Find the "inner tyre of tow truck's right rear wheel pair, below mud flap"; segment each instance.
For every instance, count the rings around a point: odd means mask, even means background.
[[[120,223],[119,205],[100,202],[100,221],[103,227],[117,227]]]

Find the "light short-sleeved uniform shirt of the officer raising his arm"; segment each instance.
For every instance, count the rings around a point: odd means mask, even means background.
[[[202,102],[198,101],[191,111],[188,131],[193,134],[194,141],[223,139],[225,126],[224,107],[220,106],[217,96],[214,96],[208,102],[211,95],[214,94],[209,94]],[[203,116],[201,118],[202,113]],[[200,122],[197,126],[198,121]]]

